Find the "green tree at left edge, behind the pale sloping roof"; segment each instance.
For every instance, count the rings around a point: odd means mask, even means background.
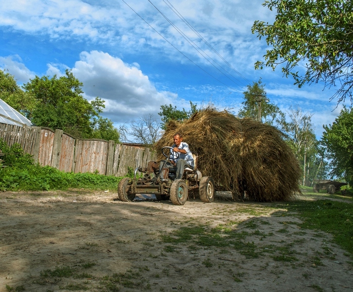
[[[31,119],[36,106],[35,98],[23,91],[13,75],[0,70],[0,98],[26,118]]]

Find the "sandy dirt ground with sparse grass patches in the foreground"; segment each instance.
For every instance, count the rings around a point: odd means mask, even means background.
[[[285,204],[117,197],[0,193],[0,291],[353,291],[349,254]]]

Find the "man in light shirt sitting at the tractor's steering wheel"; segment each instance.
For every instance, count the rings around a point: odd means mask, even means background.
[[[171,168],[176,167],[176,180],[181,180],[184,174],[184,169],[189,167],[194,169],[194,159],[187,143],[183,142],[183,136],[181,133],[176,133],[173,136],[174,145],[173,149],[170,149],[170,160],[165,164],[165,160],[162,160],[159,166],[159,173],[162,171],[162,167]],[[178,154],[176,154],[178,153]],[[179,156],[179,157],[178,157]]]

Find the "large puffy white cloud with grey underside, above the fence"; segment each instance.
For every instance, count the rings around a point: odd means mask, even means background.
[[[157,91],[137,64],[126,64],[103,52],[82,52],[72,73],[84,83],[88,100],[99,96],[106,101],[104,116],[117,123],[156,114],[161,105],[177,98],[175,93]]]

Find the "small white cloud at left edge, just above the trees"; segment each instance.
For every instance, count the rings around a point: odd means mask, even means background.
[[[7,70],[11,75],[15,76],[18,83],[27,83],[35,77],[35,73],[29,70],[18,55],[0,57],[0,69]]]

